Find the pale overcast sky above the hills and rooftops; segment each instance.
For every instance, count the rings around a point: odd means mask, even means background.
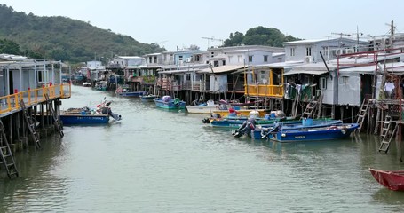
[[[65,16],[90,21],[98,28],[131,36],[140,43],[158,43],[168,51],[194,44],[206,50],[236,31],[278,28],[305,39],[362,33],[361,38],[389,34],[394,21],[404,33],[402,0],[0,0],[16,12]],[[1,20],[0,20],[1,21]],[[359,31],[357,31],[359,28]]]

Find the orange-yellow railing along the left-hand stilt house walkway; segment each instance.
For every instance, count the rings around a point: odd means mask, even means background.
[[[68,99],[71,97],[72,90],[70,83],[44,86],[34,90],[20,91],[12,95],[0,97],[0,114],[11,113],[20,110],[19,100],[23,99],[26,106],[33,106],[45,101],[45,94],[50,99]]]

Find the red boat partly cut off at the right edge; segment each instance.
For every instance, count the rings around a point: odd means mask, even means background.
[[[379,184],[394,191],[404,191],[404,170],[369,170]]]

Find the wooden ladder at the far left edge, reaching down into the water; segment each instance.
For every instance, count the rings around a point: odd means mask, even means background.
[[[19,177],[19,171],[15,165],[12,149],[10,149],[4,130],[3,122],[0,120],[0,164],[4,164],[7,175],[11,179],[12,177]]]

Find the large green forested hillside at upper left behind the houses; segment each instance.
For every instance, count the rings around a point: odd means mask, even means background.
[[[158,44],[139,43],[131,36],[115,34],[81,20],[27,15],[0,5],[0,53],[81,62],[106,60],[116,54],[139,56],[161,51],[165,49]]]

